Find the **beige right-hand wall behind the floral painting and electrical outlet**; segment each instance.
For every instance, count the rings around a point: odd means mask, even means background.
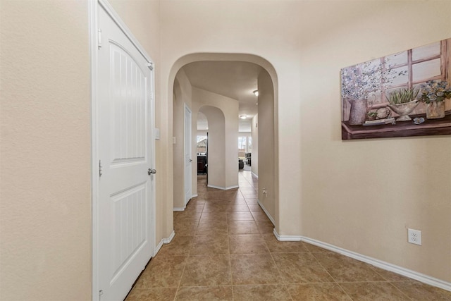
[[[449,282],[450,136],[340,140],[338,76],[344,66],[450,37],[451,2],[330,6],[339,14],[346,8],[367,12],[358,26],[331,19],[335,26],[321,39],[302,41],[301,124],[294,136],[301,140],[301,231]],[[426,15],[433,22],[419,22]],[[362,37],[368,42],[357,43]],[[407,228],[421,230],[421,247],[407,243]]]

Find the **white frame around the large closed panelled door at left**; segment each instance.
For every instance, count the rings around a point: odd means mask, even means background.
[[[118,27],[122,30],[125,36],[128,37],[130,42],[140,51],[140,54],[144,56],[146,59],[149,68],[154,69],[154,63],[150,58],[149,54],[144,50],[144,47],[137,41],[132,32],[128,29],[128,27],[123,23],[121,18],[119,18],[116,11],[114,11],[111,4],[106,0],[89,0],[88,1],[88,15],[89,15],[89,48],[90,48],[90,56],[91,56],[91,133],[92,133],[92,167],[91,167],[91,195],[92,195],[92,300],[99,300],[99,245],[98,245],[98,230],[99,230],[99,137],[98,137],[98,99],[97,99],[97,68],[99,59],[97,57],[97,49],[99,44],[101,44],[101,35],[99,37],[99,25],[98,25],[98,6],[101,5],[105,11],[109,14],[111,19],[118,25]],[[106,44],[106,43],[105,43]],[[152,90],[152,94],[150,97],[150,106],[152,113],[149,116],[149,126],[150,130],[154,131],[155,128],[155,117],[154,117],[154,108],[155,108],[155,100],[154,100],[154,91],[155,91],[155,80],[154,80],[154,71],[151,72],[150,79],[150,87]],[[151,140],[149,147],[152,151],[152,158],[150,158],[151,166],[155,166],[155,141]],[[155,181],[152,181],[152,198],[155,199]],[[152,239],[155,240],[155,202],[152,202],[150,212],[150,220],[151,220],[151,229],[150,233],[152,235]],[[155,256],[155,241],[151,241],[152,247],[152,257]]]

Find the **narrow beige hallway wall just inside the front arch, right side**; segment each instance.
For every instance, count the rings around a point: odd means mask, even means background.
[[[266,213],[275,219],[276,188],[274,179],[274,89],[271,77],[262,71],[258,78],[259,87],[259,201]],[[264,191],[266,193],[264,193]]]

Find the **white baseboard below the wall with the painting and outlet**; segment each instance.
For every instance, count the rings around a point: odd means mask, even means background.
[[[416,271],[412,271],[409,269],[405,269],[402,266],[397,266],[395,264],[390,264],[388,262],[383,262],[382,260],[369,257],[363,254],[359,254],[356,252],[352,252],[350,250],[342,249],[341,247],[336,247],[335,245],[330,245],[327,242],[321,242],[319,240],[314,240],[311,238],[306,238],[304,236],[295,236],[295,235],[278,235],[276,228],[274,228],[274,235],[276,235],[277,240],[280,241],[303,241],[308,242],[311,245],[316,245],[317,247],[322,247],[326,250],[330,250],[332,252],[336,252],[338,254],[345,255],[347,257],[351,257],[353,259],[357,259],[360,262],[366,262],[367,264],[371,264],[373,266],[377,266],[380,269],[384,269],[387,271],[392,271],[393,273],[400,274],[402,276],[406,276],[408,278],[412,278],[416,281],[420,281],[422,283],[426,283],[428,285],[433,285],[437,288],[443,288],[443,290],[451,291],[451,283],[447,281],[440,280],[438,278],[434,278],[425,274],[421,274]]]

